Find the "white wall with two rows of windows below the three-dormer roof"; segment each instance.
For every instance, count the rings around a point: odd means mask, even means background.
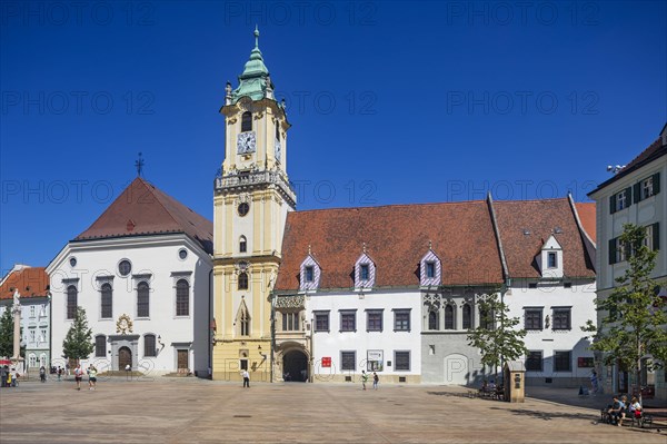
[[[362,264],[369,263],[357,268]],[[313,382],[358,382],[362,369],[378,372],[382,383],[421,382],[420,300],[418,290],[307,295]]]

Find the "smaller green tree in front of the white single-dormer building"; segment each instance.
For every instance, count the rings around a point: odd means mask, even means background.
[[[507,316],[509,307],[498,299],[498,293],[481,297],[479,313],[479,326],[468,330],[468,345],[479,348],[485,366],[494,368],[497,374],[502,363],[526,356],[526,330],[515,328],[520,320]]]

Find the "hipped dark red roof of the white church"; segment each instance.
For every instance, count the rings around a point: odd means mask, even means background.
[[[185,233],[212,254],[213,224],[137,177],[74,240]]]

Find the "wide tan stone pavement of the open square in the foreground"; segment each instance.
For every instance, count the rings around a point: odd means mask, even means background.
[[[509,404],[437,385],[377,392],[359,384],[241,388],[195,378],[86,385],[80,392],[69,381],[1,389],[0,443],[667,443],[659,424],[597,424],[607,396],[575,395],[578,403],[564,404],[571,389]]]

